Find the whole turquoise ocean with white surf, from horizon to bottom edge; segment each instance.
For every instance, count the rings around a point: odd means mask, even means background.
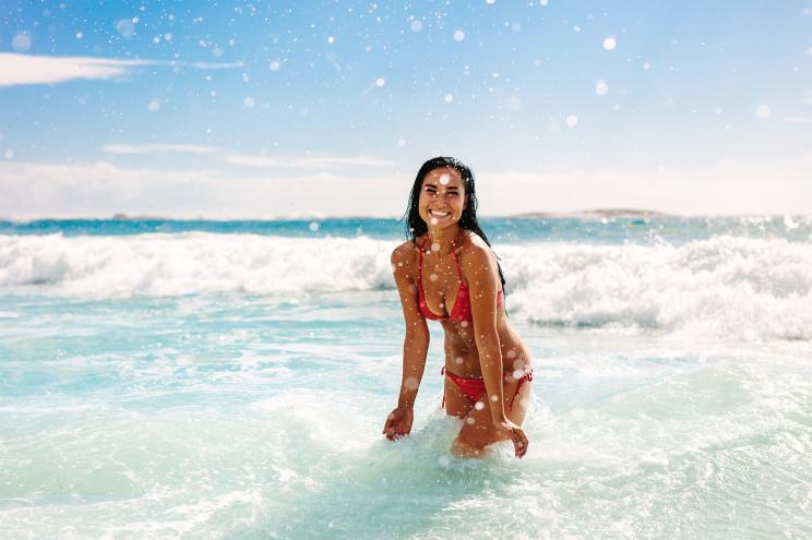
[[[483,219],[527,456],[411,436],[395,219],[0,221],[0,537],[812,537],[812,217]]]

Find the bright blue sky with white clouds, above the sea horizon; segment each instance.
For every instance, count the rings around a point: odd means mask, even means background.
[[[812,0],[17,1],[0,218],[812,213]]]

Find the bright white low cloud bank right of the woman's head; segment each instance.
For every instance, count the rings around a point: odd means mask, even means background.
[[[682,215],[808,214],[809,164],[702,170],[547,170],[477,173],[483,215],[652,209]]]

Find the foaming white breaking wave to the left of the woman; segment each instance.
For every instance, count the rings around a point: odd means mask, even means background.
[[[0,287],[91,298],[366,290],[391,285],[387,248],[366,237],[0,236]]]

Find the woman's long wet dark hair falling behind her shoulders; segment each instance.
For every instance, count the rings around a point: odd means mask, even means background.
[[[415,178],[415,183],[411,185],[411,193],[409,194],[409,204],[406,207],[406,213],[401,218],[406,219],[406,238],[411,240],[414,244],[417,244],[417,237],[428,232],[429,226],[423,221],[422,217],[420,217],[420,189],[422,188],[423,179],[429,172],[434,169],[446,167],[449,169],[454,169],[459,173],[459,178],[462,178],[465,188],[465,196],[468,204],[465,205],[463,215],[459,216],[459,227],[475,232],[479,238],[485,240],[485,243],[487,243],[488,247],[490,247],[488,237],[485,236],[485,232],[482,232],[482,228],[479,227],[479,221],[477,220],[477,190],[474,183],[474,171],[471,171],[467,165],[454,157],[433,157],[422,164],[420,170],[417,171],[417,177]],[[502,281],[502,290],[504,290],[504,274],[502,274],[502,266],[499,264],[499,257],[497,257],[497,268],[499,269],[499,280]]]

